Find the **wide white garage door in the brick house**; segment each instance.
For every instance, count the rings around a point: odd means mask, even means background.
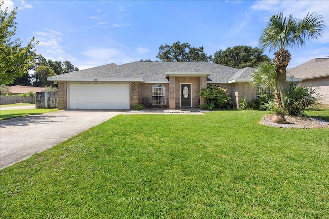
[[[69,84],[69,109],[129,109],[129,84]]]

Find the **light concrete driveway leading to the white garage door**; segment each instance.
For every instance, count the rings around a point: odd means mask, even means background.
[[[0,121],[0,169],[125,111],[62,110]]]

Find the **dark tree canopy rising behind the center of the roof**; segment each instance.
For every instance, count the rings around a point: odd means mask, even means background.
[[[173,43],[171,46],[165,44],[159,47],[159,53],[156,56],[163,62],[210,62],[211,56],[207,56],[204,48],[191,47],[188,43]]]

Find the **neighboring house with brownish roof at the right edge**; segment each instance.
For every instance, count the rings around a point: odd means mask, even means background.
[[[321,103],[329,104],[329,58],[314,58],[287,70],[287,75],[302,79],[300,84],[319,87]]]

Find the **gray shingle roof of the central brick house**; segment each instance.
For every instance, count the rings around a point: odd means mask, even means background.
[[[114,63],[52,76],[51,81],[144,81],[168,83],[166,75],[207,75],[209,83],[228,83],[231,78],[250,79],[252,68],[236,69],[209,62],[131,62]]]

